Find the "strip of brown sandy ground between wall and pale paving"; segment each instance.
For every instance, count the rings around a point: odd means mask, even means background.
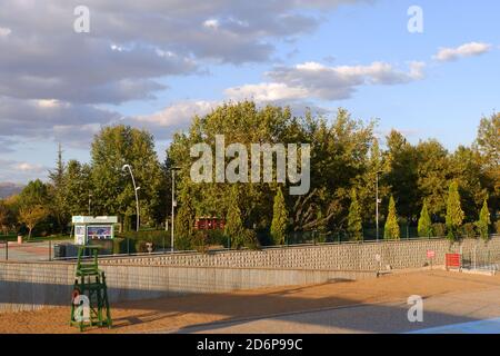
[[[500,276],[433,270],[394,274],[358,281],[340,280],[313,286],[189,295],[112,305],[113,328],[89,329],[86,333],[177,330],[220,320],[358,304],[400,301],[406,300],[410,295],[431,297],[498,288],[500,288]],[[68,325],[69,315],[69,307],[0,314],[0,334],[78,333],[77,328]]]

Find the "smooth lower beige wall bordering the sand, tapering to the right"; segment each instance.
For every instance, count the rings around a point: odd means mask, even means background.
[[[0,313],[69,306],[74,276],[69,263],[0,263]],[[180,266],[103,266],[111,304],[186,294],[373,278],[373,271]]]

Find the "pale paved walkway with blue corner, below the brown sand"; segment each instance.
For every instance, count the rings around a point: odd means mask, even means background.
[[[270,318],[189,327],[177,333],[330,334],[429,333],[500,334],[500,288],[449,294],[423,300],[423,323],[408,322],[406,301],[361,305]]]

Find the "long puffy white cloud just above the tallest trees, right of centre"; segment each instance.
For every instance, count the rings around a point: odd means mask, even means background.
[[[369,66],[328,67],[318,62],[304,62],[294,67],[278,67],[267,73],[270,82],[244,85],[227,89],[230,99],[282,101],[348,99],[361,86],[392,86],[423,78],[423,62],[410,62],[408,71],[401,71],[386,62]]]

